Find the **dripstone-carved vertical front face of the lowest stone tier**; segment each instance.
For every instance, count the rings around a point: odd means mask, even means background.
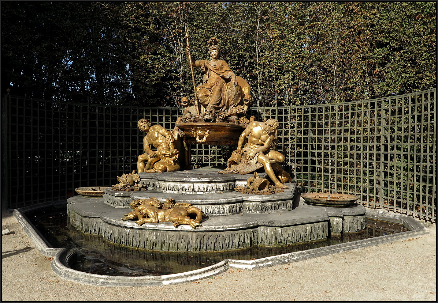
[[[230,226],[215,228],[208,232],[200,230],[179,231],[173,225],[168,228],[126,228],[112,225],[95,217],[82,217],[74,210],[69,211],[71,224],[83,232],[102,235],[109,242],[119,245],[162,251],[218,251],[236,250],[254,245],[287,245],[296,242],[311,242],[327,238],[328,222],[316,222],[286,227],[254,226],[252,228],[229,229]],[[157,224],[158,225],[158,224]],[[161,225],[161,223],[160,223]],[[248,227],[251,224],[248,224]],[[198,228],[197,228],[198,229]]]

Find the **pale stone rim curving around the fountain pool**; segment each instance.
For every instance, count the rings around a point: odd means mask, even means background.
[[[362,247],[376,246],[396,240],[408,239],[420,235],[428,234],[428,229],[416,221],[413,217],[404,214],[394,214],[381,209],[366,209],[367,218],[397,223],[409,229],[407,232],[400,232],[392,235],[383,235],[370,239],[356,240],[352,242],[339,243],[330,246],[318,247],[310,250],[302,250],[293,253],[284,253],[277,256],[265,257],[255,260],[235,260],[224,259],[208,267],[186,271],[177,274],[165,274],[156,276],[110,276],[102,274],[91,274],[77,271],[70,267],[70,263],[76,258],[76,253],[65,248],[56,248],[50,246],[49,242],[30,222],[25,215],[29,211],[40,210],[48,207],[63,207],[67,202],[52,201],[35,204],[32,206],[21,207],[14,210],[14,216],[26,234],[32,239],[35,247],[40,251],[42,256],[53,257],[51,267],[53,272],[60,278],[68,281],[77,282],[84,285],[106,286],[106,287],[134,287],[149,285],[171,285],[184,282],[197,281],[204,278],[212,277],[227,271],[228,268],[257,269],[261,267],[270,267],[280,264],[287,264],[300,260],[307,260],[314,257],[343,253]]]

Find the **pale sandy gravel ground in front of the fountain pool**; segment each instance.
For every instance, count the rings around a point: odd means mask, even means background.
[[[231,269],[198,282],[96,287],[60,279],[2,213],[2,301],[90,300],[425,300],[436,301],[436,225],[430,234],[261,270]]]

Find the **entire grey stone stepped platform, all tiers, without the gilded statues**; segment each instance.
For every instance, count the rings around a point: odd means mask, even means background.
[[[317,207],[298,202],[297,184],[273,195],[235,192],[250,175],[221,175],[218,169],[200,168],[164,174],[140,173],[146,191],[106,189],[103,199],[74,196],[67,200],[71,223],[83,232],[102,235],[110,242],[146,250],[217,251],[254,245],[287,245],[325,239],[330,233],[364,229],[365,208]],[[265,174],[259,174],[266,178]],[[135,199],[155,197],[164,202],[187,202],[208,217],[196,229],[189,225],[151,223],[138,226],[120,218]],[[295,204],[294,204],[295,203]]]

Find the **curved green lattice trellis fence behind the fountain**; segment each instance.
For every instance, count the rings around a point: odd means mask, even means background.
[[[436,220],[436,89],[350,103],[251,108],[279,121],[283,166],[302,192],[349,193],[366,207]],[[172,129],[178,108],[3,100],[2,200],[16,208],[112,185],[136,167],[137,121]],[[192,146],[192,163],[223,166],[234,146]]]

